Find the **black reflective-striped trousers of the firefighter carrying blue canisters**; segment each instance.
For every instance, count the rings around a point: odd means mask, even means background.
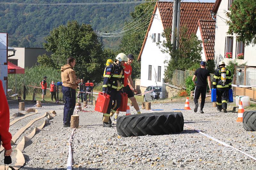
[[[228,105],[228,89],[217,89],[217,108],[218,109],[227,109]]]

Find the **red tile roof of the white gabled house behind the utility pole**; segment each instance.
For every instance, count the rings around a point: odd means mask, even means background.
[[[156,12],[156,8],[159,9],[162,24],[164,29],[168,27],[172,27],[172,2],[157,2],[155,6],[155,10],[153,13]],[[180,4],[180,27],[187,25],[188,27],[188,34],[195,32],[196,25],[199,19],[203,20],[212,20],[211,12],[214,3],[196,3],[196,2],[183,2]],[[154,17],[151,18],[150,24],[148,26],[148,31],[150,30],[151,23]],[[140,54],[138,60],[140,60],[142,51],[144,49],[148,31],[145,36],[143,45],[140,50]]]

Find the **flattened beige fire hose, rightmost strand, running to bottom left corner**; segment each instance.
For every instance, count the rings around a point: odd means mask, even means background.
[[[48,113],[48,112],[47,112]],[[55,117],[56,115],[51,113],[51,115],[48,113],[47,119],[44,119],[44,122],[41,126],[35,127],[33,131],[30,132],[30,134],[28,136],[24,136],[22,138],[22,140],[20,141],[20,143],[18,143],[18,145],[16,146],[16,150],[17,150],[17,155],[16,155],[16,164],[14,166],[10,166],[13,167],[15,170],[20,169],[24,164],[25,164],[25,158],[24,155],[22,153],[25,143],[27,141],[29,141],[30,139],[32,139],[37,131],[40,131],[44,128],[45,124],[47,124],[53,117]]]

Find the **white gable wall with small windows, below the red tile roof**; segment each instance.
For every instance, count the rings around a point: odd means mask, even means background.
[[[156,45],[157,35],[161,34],[160,41],[163,41],[162,33],[164,28],[161,22],[160,14],[158,8],[156,9],[155,18],[153,19],[151,28],[148,33],[148,38],[146,40],[143,52],[141,54],[141,77],[140,77],[140,86],[147,87],[150,85],[156,85],[155,81],[155,69],[157,74],[158,66],[161,66],[161,81],[157,81],[157,85],[162,86],[164,79],[164,61],[169,60],[169,54],[164,54],[161,52],[159,47]],[[156,33],[156,42],[152,42],[150,35]],[[152,76],[151,80],[148,80],[148,65],[152,65]],[[157,80],[157,77],[156,77]]]

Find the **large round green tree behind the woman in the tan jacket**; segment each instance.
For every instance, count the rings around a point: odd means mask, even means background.
[[[74,69],[78,77],[94,83],[102,81],[106,61],[102,60],[102,43],[91,25],[69,21],[67,25],[54,28],[45,40],[44,48],[52,52],[51,57],[57,68],[65,65],[68,57],[75,57]]]

